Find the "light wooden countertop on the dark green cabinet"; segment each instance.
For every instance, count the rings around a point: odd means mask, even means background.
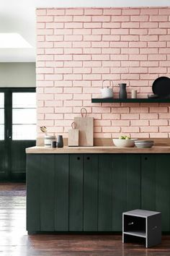
[[[152,148],[117,148],[115,146],[45,148],[35,146],[26,148],[27,154],[64,154],[64,153],[170,153],[170,146],[155,145]]]

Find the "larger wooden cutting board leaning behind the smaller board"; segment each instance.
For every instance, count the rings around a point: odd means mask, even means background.
[[[94,118],[86,117],[86,108],[81,108],[81,117],[74,118],[77,129],[79,129],[79,146],[94,145]]]

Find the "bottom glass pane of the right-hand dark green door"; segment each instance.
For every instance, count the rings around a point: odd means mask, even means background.
[[[36,124],[13,124],[13,140],[36,140]]]

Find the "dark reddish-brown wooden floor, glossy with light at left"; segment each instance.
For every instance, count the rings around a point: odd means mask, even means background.
[[[0,184],[0,255],[3,256],[167,256],[170,236],[146,249],[122,244],[117,235],[36,234],[25,229],[25,184]],[[32,216],[34,218],[34,216]]]

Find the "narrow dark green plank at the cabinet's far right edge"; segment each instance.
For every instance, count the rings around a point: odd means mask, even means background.
[[[169,161],[169,154],[156,155],[156,210],[162,214],[162,231],[170,231]]]

